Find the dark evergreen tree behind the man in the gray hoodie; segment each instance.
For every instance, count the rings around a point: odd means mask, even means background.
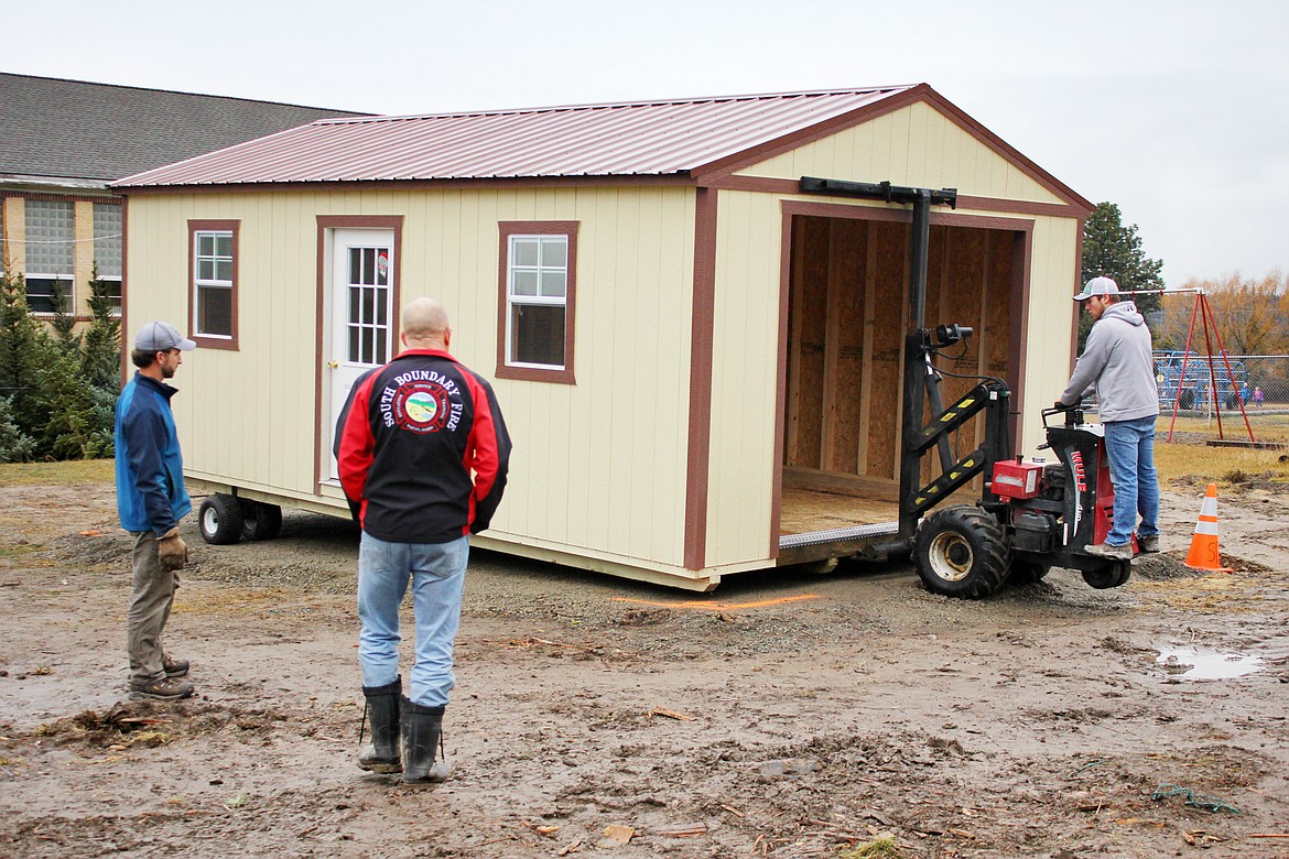
[[[1124,227],[1123,214],[1112,202],[1100,202],[1088,215],[1083,225],[1083,267],[1080,283],[1094,277],[1109,277],[1124,292],[1133,290],[1161,290],[1164,278],[1160,269],[1164,261],[1150,259],[1141,249],[1141,236],[1137,224]],[[1143,314],[1163,308],[1160,295],[1137,295],[1133,301]],[[1079,352],[1092,330],[1092,316],[1083,313],[1079,318]]]

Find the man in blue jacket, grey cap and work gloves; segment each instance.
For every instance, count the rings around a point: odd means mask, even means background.
[[[197,344],[165,322],[148,322],[134,337],[134,379],[116,401],[116,506],[121,527],[134,536],[134,585],[125,618],[130,654],[130,699],[178,701],[192,694],[186,659],[161,649],[161,631],[179,568],[188,547],[179,537],[179,519],[192,510],[183,488],[183,457],[174,429],[170,398],[183,353]]]

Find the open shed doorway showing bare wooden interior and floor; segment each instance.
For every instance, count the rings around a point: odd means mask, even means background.
[[[945,403],[973,388],[981,375],[1017,388],[1027,232],[1000,228],[999,222],[932,219],[924,325],[974,330],[965,346],[937,361],[963,376],[944,377]],[[780,547],[799,546],[797,537],[820,532],[838,532],[843,542],[893,533],[909,318],[907,220],[901,212],[870,209],[851,216],[790,214],[785,228],[790,261]],[[974,449],[982,431],[982,416],[964,425],[953,439],[956,455]],[[926,480],[935,477],[932,457],[923,470]],[[963,501],[980,497],[980,478],[959,493]],[[849,554],[844,545],[828,542],[815,543],[813,558],[791,552],[790,563]]]

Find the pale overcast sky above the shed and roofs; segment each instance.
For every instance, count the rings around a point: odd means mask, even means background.
[[[1289,269],[1283,0],[40,0],[0,32],[0,71],[376,113],[926,82],[1169,286]]]

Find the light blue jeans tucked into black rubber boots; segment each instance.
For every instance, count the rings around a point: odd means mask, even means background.
[[[358,547],[358,665],[362,685],[398,679],[398,605],[411,582],[416,661],[407,698],[424,707],[447,703],[456,685],[452,645],[461,623],[461,589],[469,538],[446,543],[392,543],[363,532]]]

